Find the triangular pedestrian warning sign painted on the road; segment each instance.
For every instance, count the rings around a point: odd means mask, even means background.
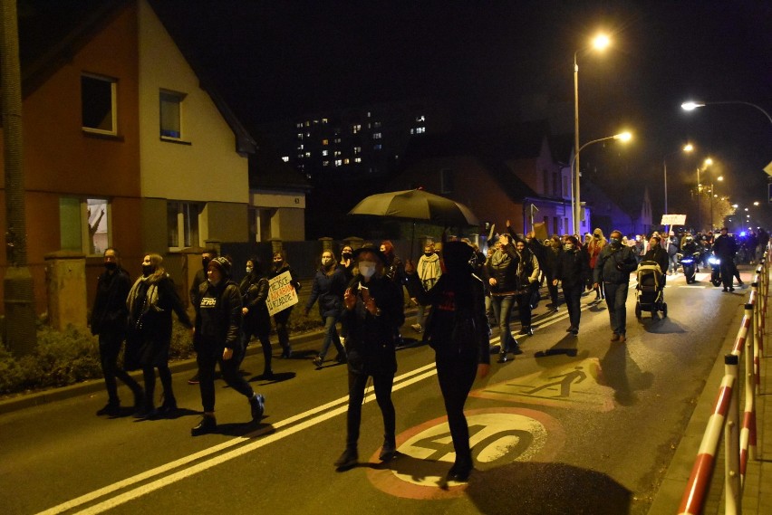
[[[598,358],[547,368],[472,391],[469,396],[586,411],[613,409],[613,389],[603,386]]]

